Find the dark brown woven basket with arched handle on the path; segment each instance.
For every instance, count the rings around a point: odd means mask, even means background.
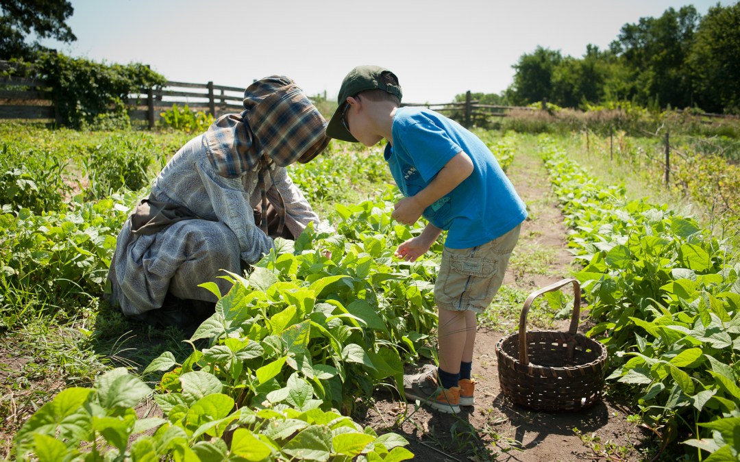
[[[569,283],[575,300],[568,332],[527,332],[527,313],[534,299]],[[577,333],[580,304],[576,279],[563,279],[530,294],[519,317],[519,333],[496,344],[501,390],[511,401],[542,411],[581,410],[601,401],[606,348]]]

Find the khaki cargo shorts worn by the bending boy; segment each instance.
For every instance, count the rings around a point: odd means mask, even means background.
[[[434,284],[437,308],[485,311],[501,287],[521,227],[519,223],[508,233],[477,247],[445,247],[440,274]]]

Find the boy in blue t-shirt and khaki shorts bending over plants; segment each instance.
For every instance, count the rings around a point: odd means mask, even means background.
[[[374,146],[386,138],[385,158],[405,196],[391,217],[422,233],[398,246],[414,262],[448,231],[434,284],[439,313],[439,367],[404,376],[404,392],[442,412],[474,403],[471,378],[476,315],[496,295],[517,240],[525,205],[485,143],[454,120],[418,107],[400,107],[397,77],[359,66],[346,75],[326,136]]]

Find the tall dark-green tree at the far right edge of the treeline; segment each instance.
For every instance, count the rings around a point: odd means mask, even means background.
[[[699,107],[740,114],[740,2],[710,8],[696,30],[688,65]]]

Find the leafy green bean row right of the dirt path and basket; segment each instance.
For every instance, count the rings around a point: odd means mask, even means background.
[[[664,447],[733,460],[740,441],[740,262],[727,241],[667,205],[625,200],[546,137],[540,150],[571,228],[576,274],[608,347],[610,381],[637,396]],[[679,450],[679,452],[681,452]]]

